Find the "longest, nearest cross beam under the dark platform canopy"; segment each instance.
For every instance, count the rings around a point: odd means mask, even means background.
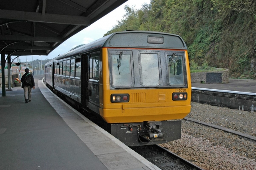
[[[11,20],[28,20],[32,22],[47,22],[55,24],[70,24],[89,26],[90,19],[85,16],[69,16],[59,14],[45,14],[37,12],[24,12],[15,10],[0,10],[0,16]]]

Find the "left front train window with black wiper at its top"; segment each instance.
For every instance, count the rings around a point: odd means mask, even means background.
[[[115,51],[113,53],[115,54],[111,54],[112,84],[116,87],[132,86],[132,52]]]

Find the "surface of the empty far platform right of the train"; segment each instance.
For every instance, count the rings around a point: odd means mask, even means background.
[[[218,90],[230,90],[236,92],[256,93],[256,80],[229,79],[229,83],[224,84],[192,83],[192,88],[210,88]]]

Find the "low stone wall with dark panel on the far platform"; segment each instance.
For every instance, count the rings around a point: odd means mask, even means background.
[[[228,69],[224,71],[214,71],[214,72],[198,72],[191,73],[192,83],[205,83],[205,84],[220,84],[228,83],[229,71]]]

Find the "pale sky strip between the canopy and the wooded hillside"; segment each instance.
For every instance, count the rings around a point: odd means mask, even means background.
[[[125,5],[130,7],[134,6],[136,9],[140,9],[144,3],[150,4],[150,0],[128,0],[126,3],[102,17],[100,20],[94,22],[92,25],[64,41],[60,46],[50,52],[48,56],[41,56],[40,58],[38,58],[38,56],[33,56],[33,60],[41,60],[41,58],[42,60],[49,60],[58,56],[59,54],[68,52],[71,48],[74,48],[80,44],[88,44],[89,42],[102,38],[104,34],[106,34],[114,25],[117,24],[117,21],[122,20],[125,14]],[[20,56],[21,62],[26,62],[26,60],[32,61],[32,56]]]

